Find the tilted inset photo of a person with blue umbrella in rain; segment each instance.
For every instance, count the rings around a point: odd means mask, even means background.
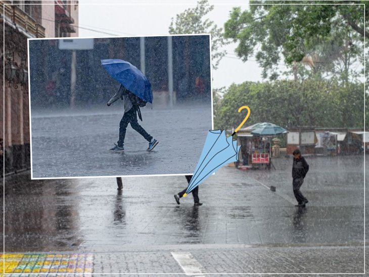
[[[192,173],[212,129],[209,35],[29,49],[33,178]]]

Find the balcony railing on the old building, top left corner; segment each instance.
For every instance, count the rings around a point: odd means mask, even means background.
[[[9,18],[17,27],[24,29],[32,36],[45,37],[45,28],[19,7],[12,5],[11,1],[0,1],[0,12]]]

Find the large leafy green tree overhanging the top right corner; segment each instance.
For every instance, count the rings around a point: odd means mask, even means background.
[[[273,3],[279,5],[270,5]],[[278,78],[278,64],[284,58],[295,79],[298,75],[322,78],[330,73],[348,82],[352,65],[363,53],[367,8],[364,18],[363,5],[317,3],[321,5],[295,5],[310,1],[250,1],[255,5],[247,11],[233,9],[224,25],[224,35],[239,43],[236,53],[243,61],[255,55],[263,68],[263,78]]]

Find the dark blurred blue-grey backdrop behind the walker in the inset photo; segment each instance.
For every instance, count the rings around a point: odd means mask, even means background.
[[[103,59],[125,60],[143,71],[152,85],[154,104],[169,104],[170,98],[171,104],[210,99],[209,39],[209,35],[95,38],[90,49],[75,50],[74,67],[73,50],[60,44],[69,41],[79,47],[92,39],[32,40],[32,108],[105,105],[119,84],[101,66]]]

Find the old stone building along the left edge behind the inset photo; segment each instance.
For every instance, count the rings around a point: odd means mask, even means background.
[[[0,14],[5,26],[0,31],[1,40],[5,34],[0,56],[1,63],[5,60],[5,83],[0,80],[5,132],[1,126],[0,138],[5,174],[10,174],[30,168],[27,38],[78,36],[78,1],[0,1]]]

